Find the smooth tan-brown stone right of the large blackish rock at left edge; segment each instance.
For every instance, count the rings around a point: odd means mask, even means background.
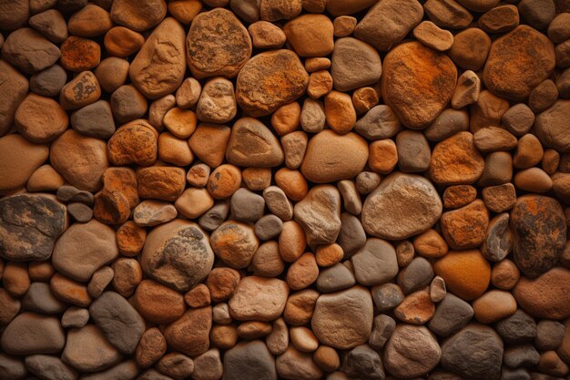
[[[56,242],[52,262],[56,270],[87,282],[103,265],[118,256],[115,231],[98,222],[74,224]]]

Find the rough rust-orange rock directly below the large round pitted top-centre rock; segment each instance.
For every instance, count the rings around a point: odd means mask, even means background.
[[[239,71],[236,99],[249,116],[265,116],[299,98],[308,84],[309,76],[293,52],[264,52],[249,59]]]

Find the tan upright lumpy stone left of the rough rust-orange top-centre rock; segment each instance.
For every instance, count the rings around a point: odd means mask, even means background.
[[[214,77],[202,88],[196,114],[200,121],[227,123],[235,118],[237,108],[233,84],[224,77]]]

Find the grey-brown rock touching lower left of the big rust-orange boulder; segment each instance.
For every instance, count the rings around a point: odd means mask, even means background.
[[[390,106],[379,105],[359,119],[354,130],[369,140],[390,139],[402,129],[402,123]]]

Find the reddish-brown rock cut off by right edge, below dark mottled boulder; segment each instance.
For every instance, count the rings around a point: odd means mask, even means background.
[[[535,317],[565,319],[570,316],[569,286],[570,271],[554,268],[534,280],[522,277],[514,287],[514,298]]]

